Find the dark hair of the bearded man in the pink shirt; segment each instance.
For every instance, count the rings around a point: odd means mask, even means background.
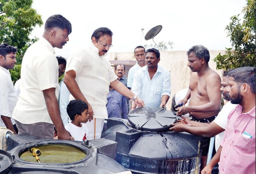
[[[229,76],[234,78],[238,86],[247,83],[251,88],[251,92],[255,94],[255,67],[244,66],[236,68],[229,73]]]

